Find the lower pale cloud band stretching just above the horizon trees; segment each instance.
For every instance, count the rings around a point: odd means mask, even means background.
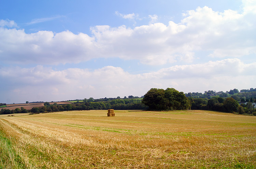
[[[141,96],[150,88],[168,87],[186,93],[212,89],[226,91],[251,88],[254,85],[251,79],[255,79],[255,68],[256,62],[246,64],[239,59],[176,65],[144,74],[130,74],[113,66],[95,70],[69,68],[62,71],[42,65],[33,68],[1,68],[0,80],[3,86],[0,92],[6,93],[6,96],[15,94],[17,100],[13,101],[22,102],[26,101],[27,96],[43,101]],[[7,98],[1,99],[6,102],[3,99]]]

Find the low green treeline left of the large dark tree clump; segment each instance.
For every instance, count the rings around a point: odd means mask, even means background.
[[[33,107],[31,110],[26,110],[23,107],[21,109],[16,108],[15,110],[2,109],[0,114],[11,114],[11,113],[45,113],[45,112],[57,112],[57,111],[70,111],[70,110],[146,110],[147,106],[141,103],[138,99],[115,99],[111,101],[84,101],[75,102],[67,105],[57,105],[54,103],[50,105],[49,102],[45,102],[43,107]]]

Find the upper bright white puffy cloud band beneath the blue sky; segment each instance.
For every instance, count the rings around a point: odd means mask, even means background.
[[[198,7],[185,12],[180,23],[170,21],[167,25],[153,23],[156,15],[150,16],[152,24],[134,28],[99,25],[91,27],[91,36],[70,31],[27,34],[24,30],[1,27],[0,59],[5,63],[65,64],[118,57],[161,65],[176,61],[189,63],[195,57],[243,57],[256,53],[256,7],[253,4],[253,1],[244,1],[242,13]],[[137,17],[134,13],[116,12],[116,15],[126,19]],[[2,25],[10,23],[2,22]],[[195,56],[200,51],[208,55]]]

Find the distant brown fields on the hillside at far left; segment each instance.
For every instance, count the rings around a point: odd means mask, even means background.
[[[67,101],[59,101],[59,102],[49,102],[50,105],[53,105],[54,103],[57,103],[57,105],[66,105],[66,104],[72,104],[71,102]],[[5,109],[14,110],[16,108],[24,107],[24,109],[32,109],[33,107],[42,107],[44,106],[44,103],[23,103],[23,104],[7,104]]]

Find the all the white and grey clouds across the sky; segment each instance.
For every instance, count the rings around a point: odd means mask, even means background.
[[[185,12],[180,23],[163,24],[150,15],[148,25],[98,25],[91,27],[91,35],[68,30],[28,34],[14,21],[0,20],[0,102],[142,96],[150,88],[173,87],[185,93],[252,88],[256,62],[246,59],[256,54],[256,3],[243,3],[242,12],[204,6]],[[51,67],[96,58],[138,60],[151,68],[180,65],[144,74],[126,72],[122,65],[94,70]]]

